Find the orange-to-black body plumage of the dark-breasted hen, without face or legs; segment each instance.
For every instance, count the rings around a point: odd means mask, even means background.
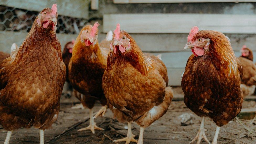
[[[102,76],[107,65],[107,55],[103,54],[98,41],[94,46],[86,46],[81,42],[82,31],[88,28],[92,26],[85,26],[80,31],[73,46],[68,68],[71,85],[84,96],[80,99],[81,103],[91,109],[96,100],[102,105],[107,104],[102,90]]]

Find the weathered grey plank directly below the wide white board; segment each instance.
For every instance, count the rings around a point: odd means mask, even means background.
[[[121,28],[122,29],[122,28]],[[102,35],[102,34],[100,34]],[[105,36],[105,34],[104,34]],[[184,52],[187,34],[131,34],[138,46],[144,52]],[[240,51],[247,45],[256,51],[256,35],[254,34],[227,34],[231,40],[234,51]],[[189,51],[189,50],[188,50]]]

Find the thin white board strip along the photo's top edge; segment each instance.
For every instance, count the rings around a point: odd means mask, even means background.
[[[114,3],[215,3],[215,2],[256,2],[255,0],[114,0]]]

